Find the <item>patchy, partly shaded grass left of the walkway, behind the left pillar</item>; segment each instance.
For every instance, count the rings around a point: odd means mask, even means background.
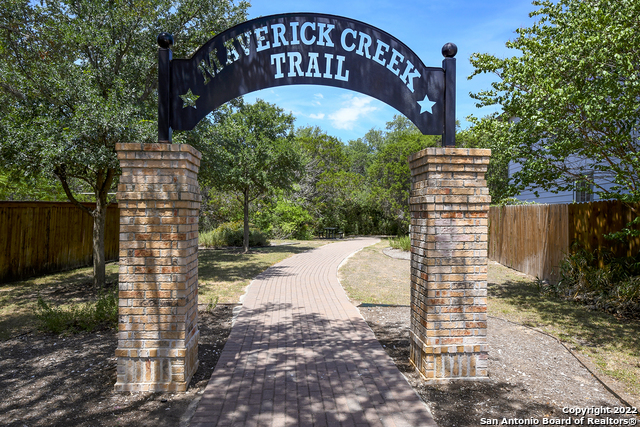
[[[242,254],[241,250],[200,251],[199,302],[211,308],[217,303],[237,303],[251,279],[262,271],[291,255],[327,242],[291,243],[296,244],[252,248],[248,254]],[[45,326],[47,330],[59,332],[91,330],[106,324],[103,310],[106,302],[96,304],[100,294],[93,289],[92,273],[93,269],[88,267],[1,284],[0,340],[43,325],[48,325]],[[117,282],[118,264],[107,264],[106,273],[107,283]]]

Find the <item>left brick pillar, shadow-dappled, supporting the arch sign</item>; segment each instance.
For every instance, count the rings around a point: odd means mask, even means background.
[[[116,145],[122,177],[116,391],[185,391],[198,368],[200,153]]]

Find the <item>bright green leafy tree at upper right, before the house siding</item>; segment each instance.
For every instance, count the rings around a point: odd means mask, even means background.
[[[640,1],[533,4],[537,22],[507,43],[514,56],[471,56],[473,76],[499,77],[478,105],[502,109],[477,126],[492,132],[494,153],[522,164],[518,190],[583,181],[601,198],[639,201]]]

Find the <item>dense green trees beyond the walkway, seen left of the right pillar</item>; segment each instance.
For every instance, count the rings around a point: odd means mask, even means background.
[[[348,145],[318,128],[298,129],[304,174],[292,200],[315,219],[315,234],[403,234],[409,226],[409,155],[435,146],[404,117]]]

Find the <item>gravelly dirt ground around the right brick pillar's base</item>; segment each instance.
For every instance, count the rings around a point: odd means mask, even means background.
[[[487,420],[501,423],[503,418],[535,419],[542,425],[543,418],[569,418],[563,408],[613,411],[621,406],[555,339],[494,317],[489,318],[487,331],[489,381],[427,385],[409,363],[410,308],[359,308],[440,427],[475,427],[488,424]],[[630,418],[618,414],[588,417]],[[572,421],[570,425],[576,424]]]

